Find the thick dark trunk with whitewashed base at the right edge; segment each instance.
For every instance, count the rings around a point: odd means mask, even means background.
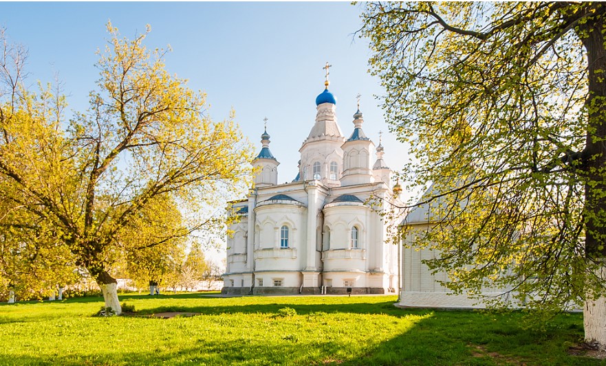
[[[595,275],[606,275],[606,47],[602,33],[606,25],[606,6],[599,4],[592,21],[578,25],[577,34],[587,51],[587,139],[583,151],[585,180],[585,257],[587,264],[598,263]],[[595,282],[594,282],[595,283]],[[597,296],[587,282],[583,323],[585,341],[606,349],[606,297]]]

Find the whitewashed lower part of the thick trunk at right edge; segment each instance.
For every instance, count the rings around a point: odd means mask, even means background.
[[[598,277],[605,279],[606,264],[598,269]],[[591,295],[585,299],[583,308],[583,325],[585,342],[596,344],[600,350],[606,350],[606,297],[592,300]]]

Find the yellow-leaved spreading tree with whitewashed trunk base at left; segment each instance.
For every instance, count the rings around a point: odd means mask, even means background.
[[[64,243],[120,313],[111,275],[120,253],[204,227],[221,192],[248,185],[251,150],[231,118],[211,120],[206,95],[164,69],[164,51],[144,47],[149,29],[132,41],[109,23],[107,30],[90,107],[69,121],[59,93],[24,87],[26,52],[2,38],[0,201],[25,214],[0,220],[22,229],[36,223],[32,230]],[[141,242],[124,240],[168,196],[182,211],[180,225],[155,241],[143,231]],[[11,220],[18,217],[36,220]]]

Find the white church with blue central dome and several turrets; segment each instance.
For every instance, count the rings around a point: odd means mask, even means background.
[[[391,170],[381,144],[362,130],[359,106],[349,138],[343,135],[328,84],[316,98],[294,181],[277,184],[279,162],[267,130],[261,135],[255,187],[232,203],[241,220],[230,227],[224,293],[397,291],[398,247],[387,242],[379,214],[394,199]]]

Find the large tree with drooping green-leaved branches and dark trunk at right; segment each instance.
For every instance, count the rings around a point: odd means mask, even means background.
[[[368,3],[385,115],[433,183],[418,244],[455,291],[585,309],[606,345],[606,4]],[[439,201],[439,203],[438,203]]]

